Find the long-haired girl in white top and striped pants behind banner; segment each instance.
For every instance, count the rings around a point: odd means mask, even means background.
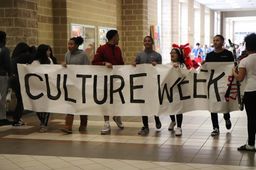
[[[31,64],[53,64],[51,58],[50,58],[50,50],[49,46],[45,44],[41,44],[37,48],[36,55],[31,60]],[[47,132],[47,124],[49,120],[50,113],[49,112],[36,112],[36,115],[38,116],[40,123],[40,131],[39,133]]]

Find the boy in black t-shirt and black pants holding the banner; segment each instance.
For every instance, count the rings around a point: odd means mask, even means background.
[[[215,48],[214,51],[207,54],[206,59],[201,62],[204,64],[206,62],[230,62],[234,61],[233,54],[231,51],[222,48],[224,44],[224,37],[222,35],[215,35],[213,38],[213,46]],[[223,114],[224,120],[226,122],[226,128],[229,130],[231,129],[231,122],[230,122],[230,114],[225,113]],[[211,135],[218,135],[219,131],[219,123],[218,123],[218,113],[211,113],[212,119],[212,126],[213,131]]]

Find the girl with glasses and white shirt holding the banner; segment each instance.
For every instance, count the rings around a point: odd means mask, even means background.
[[[183,58],[182,50],[175,47],[171,50],[170,55],[171,55],[171,62],[167,63],[166,65],[172,65],[174,68],[180,67],[183,69],[187,69],[185,60]],[[183,114],[176,114],[177,123],[175,120],[175,115],[170,115],[170,118],[171,118],[172,122],[170,123],[168,130],[173,130],[174,126],[176,126],[176,124],[177,124],[175,135],[176,136],[182,135],[181,124],[182,124]]]

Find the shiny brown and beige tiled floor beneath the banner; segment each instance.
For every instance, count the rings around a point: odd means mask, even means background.
[[[139,135],[141,116],[123,116],[125,128],[110,122],[111,133],[100,135],[103,116],[89,116],[87,131],[78,131],[75,116],[73,134],[59,131],[64,114],[51,114],[47,133],[38,133],[34,113],[22,116],[26,128],[0,126],[1,169],[256,169],[255,152],[240,152],[247,142],[245,111],[231,113],[227,130],[219,114],[220,135],[211,136],[208,111],[183,114],[182,135],[168,131],[169,116],[160,116],[162,128],[149,118],[150,133]],[[34,155],[34,156],[33,156]],[[72,158],[66,158],[72,157]],[[10,166],[9,166],[10,165]]]

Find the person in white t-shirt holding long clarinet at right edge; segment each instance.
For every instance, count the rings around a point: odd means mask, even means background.
[[[236,73],[237,66],[232,69],[232,73],[239,82],[242,82],[245,78],[244,105],[247,113],[248,144],[240,146],[237,149],[256,152],[256,34],[251,33],[247,35],[244,41],[246,43],[245,50],[249,56],[240,61],[239,73]]]

